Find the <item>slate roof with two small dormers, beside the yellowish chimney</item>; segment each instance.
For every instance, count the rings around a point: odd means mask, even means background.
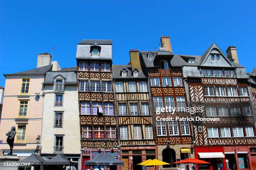
[[[123,67],[126,68],[127,72],[127,77],[122,77],[122,75],[120,74],[120,71],[123,69]],[[144,69],[143,69],[144,70]],[[131,65],[113,65],[113,78],[114,79],[131,79],[131,78],[146,78],[147,76],[145,75],[144,72],[142,72],[142,70],[139,70],[138,72],[138,77],[133,77],[132,75],[132,68]]]

